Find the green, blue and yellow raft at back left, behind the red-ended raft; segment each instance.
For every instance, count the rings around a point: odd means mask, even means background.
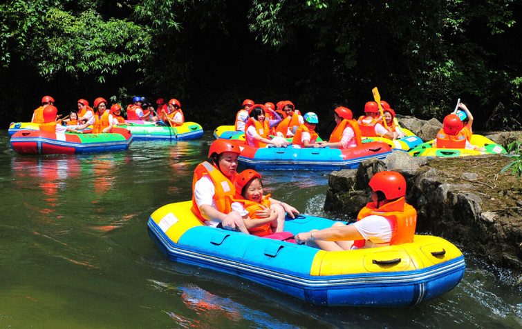
[[[127,120],[125,121],[134,139],[136,140],[175,140],[189,141],[203,136],[203,128],[195,122],[185,122],[181,126],[160,126],[151,121]]]

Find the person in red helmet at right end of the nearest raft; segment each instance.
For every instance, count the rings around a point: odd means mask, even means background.
[[[393,171],[377,172],[370,179],[369,186],[373,202],[362,208],[357,222],[350,225],[337,222],[324,230],[299,233],[295,237],[297,243],[340,251],[412,242],[417,211],[404,201],[404,177]]]

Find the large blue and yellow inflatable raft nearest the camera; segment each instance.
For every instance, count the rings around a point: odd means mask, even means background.
[[[326,252],[203,226],[192,201],[171,203],[149,218],[151,239],[172,261],[237,275],[311,303],[328,306],[413,306],[454,288],[465,272],[456,246],[439,237],[416,235],[412,243]],[[287,217],[296,235],[333,221]]]

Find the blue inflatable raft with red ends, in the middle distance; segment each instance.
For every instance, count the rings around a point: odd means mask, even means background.
[[[388,144],[379,141],[363,143],[355,148],[253,148],[240,145],[238,162],[246,168],[341,170],[357,168],[370,158],[384,159],[391,154]]]

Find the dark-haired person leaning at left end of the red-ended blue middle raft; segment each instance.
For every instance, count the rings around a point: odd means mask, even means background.
[[[270,124],[268,120],[265,120],[264,107],[264,105],[255,104],[250,108],[250,119],[248,119],[245,125],[246,143],[254,148],[265,148],[268,145],[280,148],[288,144],[281,137],[270,139]]]

